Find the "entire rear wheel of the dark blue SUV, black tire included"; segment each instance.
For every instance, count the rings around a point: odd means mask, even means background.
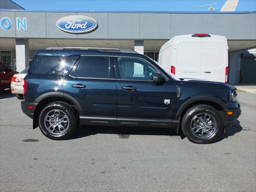
[[[54,116],[55,112],[57,114],[56,116],[58,116],[58,113],[59,113],[59,120],[60,118],[63,118],[63,120],[67,121],[68,123],[66,122],[56,123],[55,120],[57,120],[58,118]],[[52,114],[54,117],[49,116],[50,114]],[[48,115],[47,117],[48,119],[46,118],[47,115]],[[55,123],[52,123],[53,119]],[[52,140],[64,140],[64,139],[70,138],[76,132],[77,126],[78,126],[76,113],[74,112],[72,107],[69,106],[68,104],[58,103],[58,102],[54,102],[46,105],[39,114],[38,122],[39,122],[39,127],[41,132],[46,137]],[[52,126],[52,124],[56,124],[56,125]],[[58,124],[60,124],[60,126],[62,126],[63,128],[59,129]],[[52,127],[48,129],[46,126],[47,127],[52,126]]]

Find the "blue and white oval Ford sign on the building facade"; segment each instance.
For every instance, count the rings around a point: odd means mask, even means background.
[[[56,25],[60,30],[68,33],[88,33],[98,26],[94,19],[82,15],[62,17]]]

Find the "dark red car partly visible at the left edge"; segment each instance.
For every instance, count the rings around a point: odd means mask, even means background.
[[[19,72],[11,70],[5,64],[0,62],[0,90],[10,88],[11,77],[16,73]]]

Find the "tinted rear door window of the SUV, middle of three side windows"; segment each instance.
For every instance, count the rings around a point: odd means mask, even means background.
[[[80,56],[70,75],[80,78],[115,78],[109,56]]]

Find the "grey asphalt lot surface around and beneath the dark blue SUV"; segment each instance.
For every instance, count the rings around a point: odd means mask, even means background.
[[[95,126],[54,141],[20,100],[0,100],[0,191],[255,192],[256,94],[238,99],[238,121],[204,145],[168,129]]]

